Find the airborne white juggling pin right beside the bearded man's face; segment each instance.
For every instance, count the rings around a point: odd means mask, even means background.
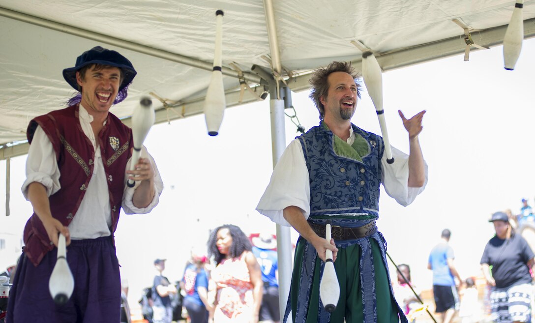
[[[379,126],[385,143],[386,162],[392,164],[394,163],[394,157],[392,157],[392,148],[390,147],[388,130],[386,129],[385,111],[383,110],[383,75],[381,67],[372,52],[362,53],[362,78],[366,89],[368,89],[368,94],[370,94],[371,101],[375,105],[375,111],[379,119]]]

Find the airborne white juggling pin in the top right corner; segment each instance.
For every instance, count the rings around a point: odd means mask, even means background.
[[[511,20],[503,37],[503,63],[505,69],[509,71],[515,69],[516,61],[522,50],[522,40],[524,39],[523,6],[524,0],[516,1],[515,9],[513,9]]]

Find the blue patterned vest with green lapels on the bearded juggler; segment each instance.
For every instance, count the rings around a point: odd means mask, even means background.
[[[351,124],[355,142],[335,136],[325,125],[297,137],[310,178],[310,217],[379,212],[383,138]]]

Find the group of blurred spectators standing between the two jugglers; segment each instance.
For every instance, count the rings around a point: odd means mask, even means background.
[[[156,259],[154,284],[140,299],[144,318],[151,323],[278,323],[276,248],[273,235],[248,237],[238,226],[223,225],[212,230],[206,250],[192,249],[179,282],[162,274],[166,259]]]

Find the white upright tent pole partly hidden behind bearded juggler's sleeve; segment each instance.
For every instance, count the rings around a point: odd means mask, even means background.
[[[270,87],[273,89],[272,87]],[[272,98],[277,98],[276,89],[270,91]],[[277,165],[282,152],[286,148],[284,124],[284,100],[270,99],[271,142],[273,148],[273,167]],[[290,291],[292,278],[292,241],[290,228],[277,224],[277,260],[279,267],[279,305],[281,319],[286,309],[286,301]]]

